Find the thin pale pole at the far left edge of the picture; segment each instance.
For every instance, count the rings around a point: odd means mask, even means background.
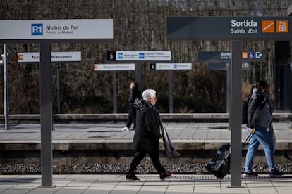
[[[9,125],[9,103],[8,103],[8,63],[7,63],[7,46],[3,44],[4,47],[4,91],[3,91],[3,100],[4,100],[4,116],[5,116],[5,130],[10,128]]]

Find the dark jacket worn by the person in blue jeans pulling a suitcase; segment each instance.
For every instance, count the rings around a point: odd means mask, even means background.
[[[253,94],[248,103],[248,127],[257,125],[269,127],[272,123],[272,109],[269,103],[269,94],[253,89]]]

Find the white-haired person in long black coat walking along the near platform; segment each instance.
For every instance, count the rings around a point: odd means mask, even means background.
[[[133,138],[132,149],[135,150],[136,153],[130,163],[128,173],[126,174],[126,179],[128,181],[140,181],[140,178],[135,176],[135,170],[146,153],[150,156],[162,181],[169,179],[173,174],[172,172],[166,172],[159,161],[159,138],[162,138],[162,135],[160,134],[159,128],[159,115],[158,112],[154,110],[156,101],[156,91],[153,89],[143,91],[142,98],[137,98],[135,100],[137,128]]]

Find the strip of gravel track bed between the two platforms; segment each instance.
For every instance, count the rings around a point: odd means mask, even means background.
[[[210,174],[205,164],[164,164],[167,171],[175,174]],[[130,164],[53,164],[53,174],[126,174]],[[292,163],[277,164],[285,173],[292,173]],[[267,164],[254,164],[254,171],[259,174],[269,173]],[[243,170],[244,171],[244,166]],[[156,174],[151,163],[141,163],[137,174]],[[0,174],[41,174],[38,164],[0,164]]]

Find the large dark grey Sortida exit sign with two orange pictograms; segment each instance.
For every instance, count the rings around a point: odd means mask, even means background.
[[[291,17],[169,17],[167,38],[176,40],[291,40]]]

